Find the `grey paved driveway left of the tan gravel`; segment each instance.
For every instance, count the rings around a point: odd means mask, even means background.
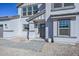
[[[10,48],[18,48],[18,49],[27,49],[33,51],[40,51],[45,44],[44,41],[30,40],[27,42],[12,42],[10,40],[0,40],[0,46],[10,47]]]

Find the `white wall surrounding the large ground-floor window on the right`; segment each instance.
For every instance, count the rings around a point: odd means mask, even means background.
[[[74,9],[64,9],[64,10],[58,10],[58,11],[51,11],[50,15],[61,15],[61,14],[68,14],[68,13],[74,13],[79,12],[79,4],[75,3]],[[53,21],[53,40],[54,42],[63,42],[63,43],[77,43],[79,42],[79,15],[76,15],[75,20],[71,20],[71,37],[58,37],[57,36],[57,21]]]

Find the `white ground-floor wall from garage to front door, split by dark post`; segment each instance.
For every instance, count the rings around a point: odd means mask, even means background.
[[[26,18],[21,19],[21,27],[22,31],[22,37],[27,38],[27,31],[23,31],[23,24],[28,24],[25,20]],[[0,21],[0,24],[3,24],[3,38],[4,39],[11,39],[13,37],[18,36],[18,19],[13,20],[6,20],[6,21]],[[5,24],[7,24],[7,28],[5,27]],[[19,25],[20,26],[20,25]]]

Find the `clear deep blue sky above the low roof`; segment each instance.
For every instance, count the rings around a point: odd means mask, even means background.
[[[0,16],[17,15],[16,3],[0,3]]]

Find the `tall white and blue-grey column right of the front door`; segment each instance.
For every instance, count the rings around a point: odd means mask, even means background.
[[[47,3],[46,4],[46,18],[45,18],[45,22],[46,22],[46,28],[45,28],[45,38],[49,41],[52,41],[52,37],[53,37],[53,22],[51,20],[51,3]]]

